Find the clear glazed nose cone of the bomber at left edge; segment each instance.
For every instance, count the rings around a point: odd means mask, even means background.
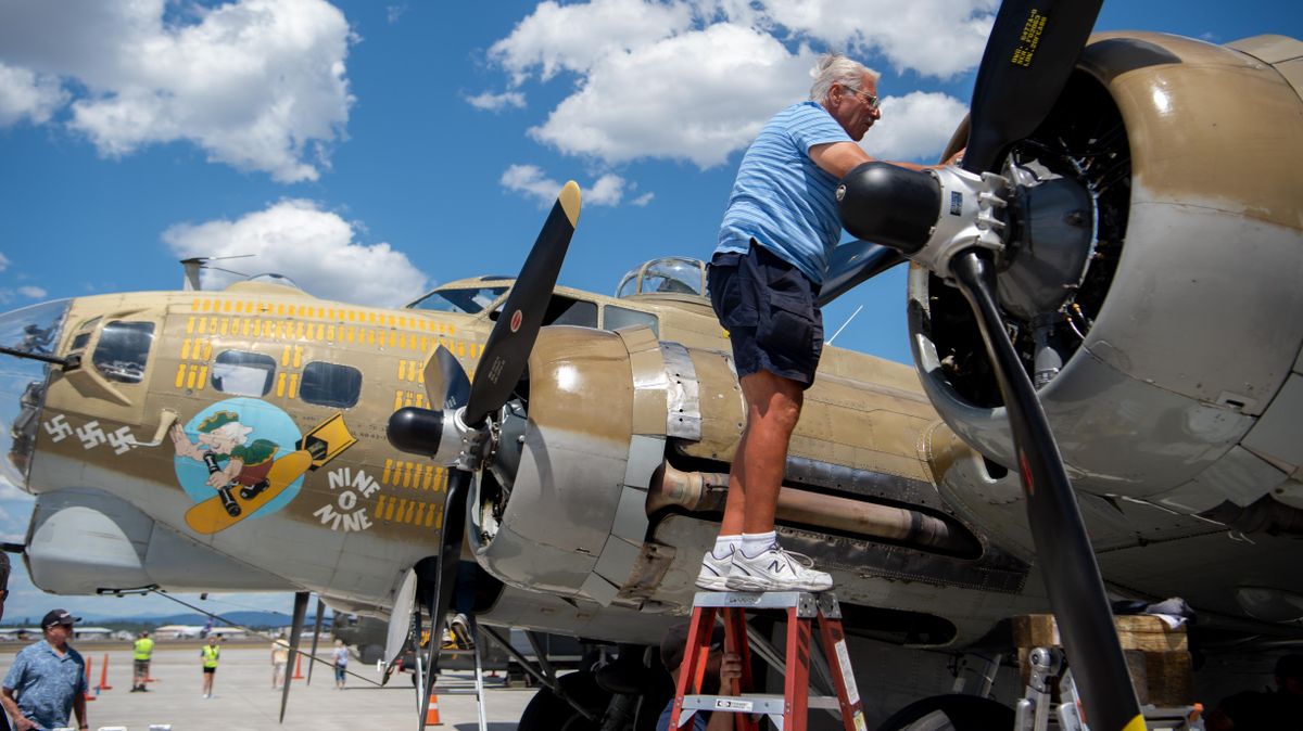
[[[56,356],[70,299],[56,299],[0,315],[0,477],[25,488],[46,377]]]

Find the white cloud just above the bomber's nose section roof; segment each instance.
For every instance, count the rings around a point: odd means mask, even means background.
[[[212,267],[245,274],[283,274],[305,291],[328,299],[397,307],[426,291],[429,280],[405,254],[388,243],[358,243],[356,228],[310,200],[281,200],[235,221],[172,226],[163,233],[163,241],[180,258],[253,255],[212,261]],[[211,268],[203,271],[205,289],[238,278]]]

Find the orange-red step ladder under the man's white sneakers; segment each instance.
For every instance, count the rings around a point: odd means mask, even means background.
[[[787,654],[783,695],[751,693],[751,644],[747,639],[747,610],[787,613]],[[724,623],[724,650],[741,657],[739,695],[700,695],[710,654],[715,617]],[[837,696],[810,696],[810,623],[818,619],[820,640],[827,657]],[[760,717],[767,717],[779,731],[805,731],[810,708],[839,711],[846,731],[864,731],[864,704],[851,672],[851,656],[842,632],[842,609],[833,592],[698,592],[692,602],[692,623],[683,654],[679,684],[675,688],[670,728],[692,722],[698,711],[735,713],[735,728],[758,731]]]

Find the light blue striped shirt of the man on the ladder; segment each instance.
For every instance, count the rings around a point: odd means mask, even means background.
[[[842,241],[838,178],[810,160],[810,147],[851,142],[842,125],[813,101],[794,104],[769,120],[737,168],[717,252],[745,254],[754,238],[823,284],[827,260]]]

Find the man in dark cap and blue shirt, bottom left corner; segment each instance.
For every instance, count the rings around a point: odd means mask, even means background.
[[[70,711],[86,728],[86,661],[68,639],[79,618],[56,609],[40,620],[44,639],[18,650],[4,679],[0,702],[17,731],[63,728]]]

